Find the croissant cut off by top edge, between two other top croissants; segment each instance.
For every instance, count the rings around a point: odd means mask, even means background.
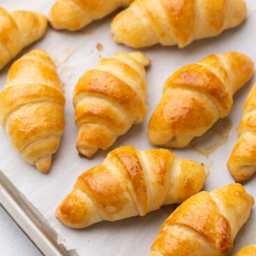
[[[57,0],[48,19],[54,29],[76,31],[134,0]]]

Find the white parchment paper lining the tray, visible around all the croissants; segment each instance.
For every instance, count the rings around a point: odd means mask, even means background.
[[[0,168],[56,230],[58,242],[63,243],[67,250],[76,249],[79,255],[86,256],[148,255],[161,223],[175,209],[175,206],[161,207],[159,211],[144,217],[127,218],[114,223],[106,221],[97,223],[83,230],[73,230],[59,223],[54,216],[56,206],[72,190],[77,177],[85,170],[102,163],[106,154],[115,147],[133,145],[139,150],[154,148],[147,140],[147,124],[161,99],[164,81],[179,67],[195,63],[209,54],[225,51],[241,51],[256,62],[256,2],[255,0],[246,2],[248,17],[236,29],[225,31],[216,38],[193,42],[182,50],[177,47],[161,46],[142,50],[152,60],[152,66],[147,69],[147,117],[143,123],[134,125],[125,136],[118,138],[109,150],[99,151],[91,160],[79,157],[75,148],[77,127],[74,125],[72,92],[83,72],[91,69],[99,59],[109,57],[118,51],[133,51],[113,43],[110,23],[115,14],[77,32],[54,31],[48,28],[47,34],[40,42],[27,47],[19,54],[20,57],[27,51],[41,48],[45,49],[55,61],[67,100],[66,125],[59,150],[53,157],[51,171],[47,174],[38,172],[34,166],[30,166],[19,157],[1,127]],[[53,3],[54,0],[0,0],[0,6],[7,10],[34,10],[45,15],[49,13]],[[97,49],[97,43],[103,46],[101,51]],[[9,68],[10,65],[0,72],[0,90],[6,83]],[[207,134],[196,138],[189,147],[173,150],[178,157],[205,163],[206,169],[211,173],[205,184],[207,191],[234,182],[227,172],[226,161],[237,141],[237,127],[241,120],[243,103],[255,80],[256,76],[234,96],[234,107],[227,118],[219,120]],[[256,198],[255,184],[256,176],[245,187]],[[232,254],[251,243],[256,243],[255,207],[248,223],[234,241]]]

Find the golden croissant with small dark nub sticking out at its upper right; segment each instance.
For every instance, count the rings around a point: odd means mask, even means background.
[[[150,60],[140,52],[114,54],[79,79],[73,102],[80,154],[93,157],[99,148],[106,150],[131,125],[143,121],[147,112],[143,66],[147,65]]]

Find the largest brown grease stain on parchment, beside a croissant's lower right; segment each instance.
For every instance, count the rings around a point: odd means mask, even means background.
[[[193,141],[191,141],[191,149],[207,158],[209,163],[205,166],[205,170],[207,170],[208,173],[211,169],[211,166],[213,166],[214,164],[214,161],[210,159],[209,156],[214,151],[216,151],[218,147],[221,147],[222,145],[227,143],[231,129],[232,122],[230,118],[223,118],[221,120],[218,120],[218,122],[216,122],[214,126],[211,127],[209,131],[207,131],[206,134],[194,138]],[[201,146],[204,141],[208,141],[214,135],[216,135],[218,138],[216,138],[211,145],[207,145],[205,147]]]

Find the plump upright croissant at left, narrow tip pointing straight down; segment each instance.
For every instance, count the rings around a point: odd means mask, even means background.
[[[0,93],[0,121],[15,150],[45,173],[64,128],[61,81],[45,51],[30,51],[10,67]]]

